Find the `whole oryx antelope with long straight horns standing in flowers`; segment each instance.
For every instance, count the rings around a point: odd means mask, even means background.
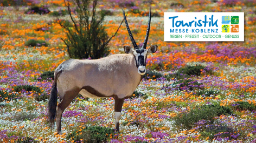
[[[88,98],[114,97],[116,131],[119,131],[124,99],[131,97],[142,80],[142,75],[146,73],[147,54],[155,53],[157,50],[157,45],[151,45],[146,50],[150,31],[150,12],[148,29],[142,47],[138,47],[133,39],[124,10],[123,15],[134,50],[130,46],[124,46],[127,54],[115,54],[95,60],[69,59],[55,70],[48,107],[49,121],[52,125],[56,117],[57,133],[61,134],[63,111],[78,93]],[[60,97],[59,105],[57,105],[57,93]]]

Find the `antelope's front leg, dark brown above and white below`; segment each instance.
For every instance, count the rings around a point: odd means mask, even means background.
[[[124,99],[119,99],[117,96],[114,97],[114,120],[117,132],[119,132],[119,120],[121,118],[121,110],[123,103]]]

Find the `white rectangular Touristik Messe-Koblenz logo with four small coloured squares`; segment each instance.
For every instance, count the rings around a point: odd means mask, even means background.
[[[244,21],[244,12],[164,12],[164,41],[244,41]]]

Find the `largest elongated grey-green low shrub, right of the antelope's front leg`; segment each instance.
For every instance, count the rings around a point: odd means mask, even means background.
[[[174,117],[175,124],[183,129],[191,129],[195,122],[199,120],[213,121],[214,117],[220,115],[230,115],[232,110],[229,107],[220,105],[203,105],[191,109],[188,113],[179,113]]]

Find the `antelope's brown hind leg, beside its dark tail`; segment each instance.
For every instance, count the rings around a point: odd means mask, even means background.
[[[67,108],[71,101],[78,95],[79,90],[67,91],[64,93],[64,96],[60,95],[60,103],[56,107],[56,125],[57,125],[57,133],[62,134],[61,132],[61,118],[63,111]]]

